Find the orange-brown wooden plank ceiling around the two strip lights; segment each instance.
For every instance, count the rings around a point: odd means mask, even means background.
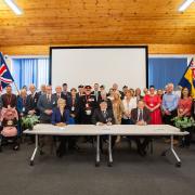
[[[183,0],[0,0],[0,47],[46,44],[195,44],[195,3]]]

